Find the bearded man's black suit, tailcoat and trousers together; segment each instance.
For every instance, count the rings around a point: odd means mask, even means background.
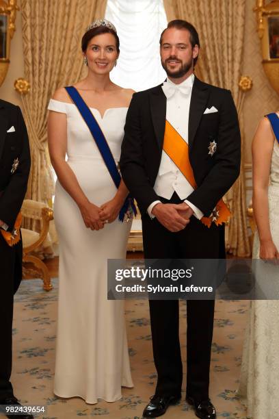
[[[205,227],[195,216],[178,233],[171,233],[146,213],[154,201],[180,203],[174,193],[167,201],[157,196],[157,178],[166,118],[165,94],[160,86],[133,95],[124,127],[120,169],[124,183],[142,213],[144,255],[148,259],[216,259],[224,257],[224,227]],[[218,112],[204,111],[214,106]],[[211,156],[209,143],[217,149]],[[241,142],[237,111],[230,91],[205,84],[195,77],[188,125],[189,160],[197,188],[183,196],[205,216],[239,175]],[[178,335],[178,301],[150,301],[150,323],[156,394],[179,396],[183,377]],[[214,301],[187,301],[187,394],[204,400],[209,396],[209,367]]]

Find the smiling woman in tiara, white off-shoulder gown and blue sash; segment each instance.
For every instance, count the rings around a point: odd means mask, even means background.
[[[114,160],[120,159],[133,90],[112,83],[119,39],[105,20],[83,35],[88,75],[75,88],[90,107]],[[124,301],[107,301],[107,259],[126,257],[131,223],[118,214],[128,190],[116,189],[96,143],[66,90],[49,103],[49,151],[57,174],[55,226],[59,235],[59,301],[54,392],[86,403],[113,402],[133,387]],[[66,160],[66,156],[68,160]]]

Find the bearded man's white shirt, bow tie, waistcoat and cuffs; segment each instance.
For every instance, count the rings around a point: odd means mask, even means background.
[[[189,108],[194,78],[194,74],[191,74],[181,84],[174,84],[170,79],[167,79],[162,86],[165,97],[167,98],[166,118],[187,144]],[[165,151],[162,151],[161,163],[155,180],[154,190],[157,195],[162,196],[165,199],[170,199],[174,191],[178,194],[180,199],[185,199],[185,197],[189,196],[194,190]],[[152,208],[159,202],[161,201],[154,201],[149,205],[147,212],[151,218],[154,218],[154,215],[151,213]],[[203,214],[196,205],[187,201],[187,199],[185,199],[185,203],[191,207],[196,218],[200,220]]]

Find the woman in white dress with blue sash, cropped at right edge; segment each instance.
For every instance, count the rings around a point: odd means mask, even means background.
[[[251,301],[239,396],[248,418],[279,418],[279,112],[261,120],[252,142],[253,259],[262,300]],[[264,299],[267,298],[267,299]],[[273,298],[273,299],[272,299]]]

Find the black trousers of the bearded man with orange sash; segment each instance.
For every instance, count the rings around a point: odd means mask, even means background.
[[[181,203],[174,193],[170,201]],[[144,257],[146,259],[216,259],[220,254],[220,227],[204,226],[193,215],[182,231],[172,233],[157,219],[142,217]],[[213,300],[187,301],[187,394],[203,400],[209,397],[209,368],[214,320]],[[155,366],[158,374],[156,394],[181,394],[183,368],[179,344],[178,301],[150,300],[150,322]]]

